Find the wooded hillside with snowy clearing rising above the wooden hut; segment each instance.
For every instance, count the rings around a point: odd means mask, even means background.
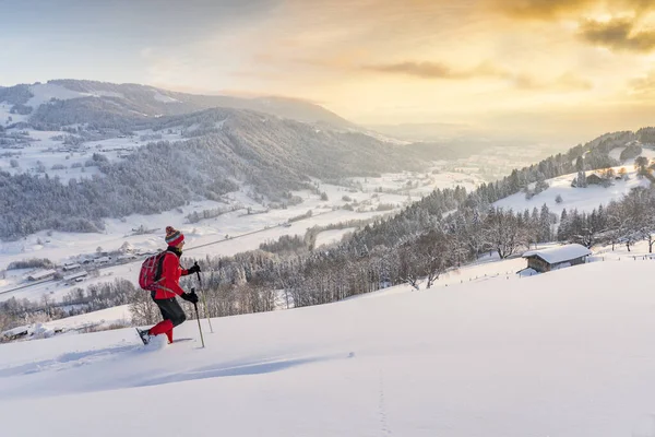
[[[438,239],[449,241],[452,245],[449,250],[455,252],[451,253],[454,260],[445,262],[458,264],[464,260],[474,260],[485,251],[498,250],[499,241],[509,243],[510,253],[531,243],[551,241],[557,238],[553,225],[559,220],[552,210],[562,212],[564,208],[569,211],[580,208],[580,212],[593,212],[602,203],[621,200],[632,188],[648,186],[635,177],[633,163],[639,154],[650,156],[648,153],[653,153],[654,132],[655,128],[642,128],[636,132],[605,133],[564,153],[514,168],[502,179],[483,182],[474,190],[436,190],[401,214],[359,232],[349,249],[369,250],[380,246],[396,247],[396,251],[402,252],[398,246],[404,246],[405,250],[412,251],[413,245],[422,238],[425,250],[429,250]],[[621,168],[621,153],[632,145],[636,146],[639,153],[623,160],[628,181],[612,177],[609,188],[570,189],[577,168],[588,175],[600,174],[611,167],[618,172]],[[544,184],[548,185],[546,191]],[[537,185],[539,189],[535,189]],[[526,200],[526,191],[532,196],[529,200]],[[561,204],[556,202],[558,194],[562,196]],[[547,209],[538,211],[544,203]],[[505,233],[503,216],[508,218],[509,234]],[[501,220],[496,221],[498,217]],[[599,231],[595,229],[594,233]],[[425,257],[429,259],[431,256]]]

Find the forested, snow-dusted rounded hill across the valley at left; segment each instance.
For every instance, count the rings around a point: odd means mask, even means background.
[[[7,172],[0,172],[0,238],[41,229],[93,232],[103,228],[105,217],[160,213],[194,199],[219,200],[243,186],[281,208],[298,202],[289,191],[310,188],[312,178],[337,180],[422,166],[401,145],[241,109],[145,121],[100,111],[108,118],[96,121],[114,129],[61,128],[93,114],[70,111],[67,102],[72,101],[41,106],[41,113],[53,117],[48,129],[66,131],[11,130],[7,138],[8,160],[0,164]],[[57,169],[55,178],[48,176],[50,168]]]

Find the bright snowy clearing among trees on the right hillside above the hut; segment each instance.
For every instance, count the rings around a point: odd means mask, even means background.
[[[615,167],[618,170],[621,167]],[[615,180],[614,185],[608,188],[600,186],[588,186],[586,188],[573,188],[571,181],[576,175],[564,175],[553,179],[548,179],[550,186],[547,190],[540,192],[534,198],[526,200],[523,192],[517,192],[493,203],[496,206],[504,209],[513,209],[514,211],[523,211],[525,209],[541,208],[544,203],[548,205],[550,212],[561,214],[563,209],[571,211],[577,209],[580,212],[592,212],[599,204],[608,204],[612,200],[621,200],[621,198],[630,192],[635,187],[647,187],[651,182],[647,179],[639,179],[636,172],[632,166],[624,167],[628,170],[629,180]],[[593,172],[587,172],[587,176]],[[563,199],[562,203],[557,203],[555,200],[558,196]]]

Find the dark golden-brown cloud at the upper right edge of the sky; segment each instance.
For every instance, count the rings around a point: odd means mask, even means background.
[[[608,22],[587,20],[580,27],[580,36],[614,50],[648,52],[655,49],[655,31],[635,31],[634,21],[628,19]]]

